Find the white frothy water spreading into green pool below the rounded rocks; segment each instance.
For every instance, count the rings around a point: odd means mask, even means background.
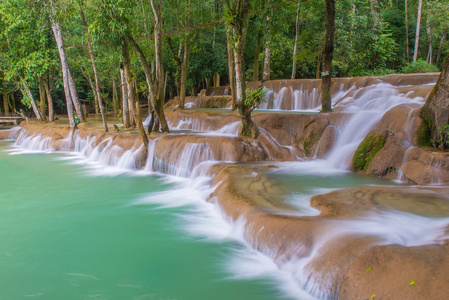
[[[216,188],[210,186],[211,178],[165,177],[164,181],[174,183],[175,186],[169,191],[142,197],[134,204],[182,208],[182,213],[177,214],[178,229],[206,241],[232,243],[229,255],[222,262],[223,268],[231,274],[230,280],[267,280],[279,288],[281,299],[315,299],[298,286],[292,273],[280,269],[270,257],[252,249],[245,242],[244,220],[240,219],[233,224],[223,217],[224,213],[214,199],[206,201]]]

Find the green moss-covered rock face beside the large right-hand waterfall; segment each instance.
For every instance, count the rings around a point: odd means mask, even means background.
[[[377,152],[385,145],[386,134],[382,132],[372,132],[368,134],[355,151],[352,165],[357,171],[366,171],[376,156]]]

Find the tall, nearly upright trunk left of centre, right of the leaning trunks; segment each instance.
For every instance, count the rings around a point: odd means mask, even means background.
[[[151,0],[151,7],[154,13],[154,50],[156,57],[156,80],[155,80],[155,101],[154,110],[159,118],[159,124],[162,132],[169,132],[167,120],[164,114],[164,67],[162,60],[162,13],[161,2]]]

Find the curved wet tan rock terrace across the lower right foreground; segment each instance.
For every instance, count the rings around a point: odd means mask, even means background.
[[[218,182],[221,184],[210,201],[218,201],[235,222],[245,219],[245,239],[273,257],[281,268],[292,260],[305,260],[298,270],[309,275],[301,284],[315,295],[332,299],[369,299],[372,295],[379,299],[444,299],[449,292],[449,269],[445,267],[449,240],[444,229],[435,244],[413,247],[389,244],[369,228],[365,234],[363,230],[337,230],[342,225],[346,228],[345,222],[391,211],[448,218],[447,188],[342,189],[312,198],[312,206],[321,211],[319,216],[294,217],[285,215],[291,208],[279,199],[276,186],[265,183],[259,173],[228,166],[216,174],[214,183]],[[416,284],[410,285],[412,281]]]

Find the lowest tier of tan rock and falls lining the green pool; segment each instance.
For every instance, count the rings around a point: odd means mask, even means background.
[[[439,213],[436,220],[445,221],[449,209],[446,206],[448,190],[444,186],[424,190],[413,187],[336,190],[311,198],[311,206],[320,211],[318,215],[298,216],[280,197],[282,192],[278,187],[264,175],[278,168],[276,164],[212,163],[211,168],[207,163],[227,142],[231,146],[226,146],[223,154],[218,155],[221,159],[214,160],[248,163],[271,157],[275,161],[275,155],[246,139],[185,132],[156,135],[151,137],[155,143],[149,163],[148,158],[139,156],[141,143],[135,132],[104,135],[95,128],[80,128],[71,142],[70,130],[61,125],[22,124],[20,134],[9,131],[8,135],[3,131],[1,137],[18,135],[22,145],[37,147],[35,150],[73,149],[84,151],[86,156],[104,153],[102,159],[107,157],[106,164],[117,164],[126,156],[125,165],[132,168],[184,177],[209,174],[213,177],[211,186],[216,188],[208,201],[217,202],[232,223],[243,222],[247,243],[272,257],[280,268],[296,274],[298,284],[319,298],[366,299],[376,294],[379,299],[422,299],[429,295],[439,299],[448,292],[444,278],[449,274],[443,268],[449,257],[447,226],[426,227],[431,232],[430,240],[426,238],[429,232],[425,231],[411,238],[398,234],[398,239],[389,240],[391,236],[384,238],[378,232],[367,232],[366,228],[359,232],[352,229],[360,226],[360,219],[372,217],[373,212],[381,212],[377,217],[382,219],[383,214],[391,210],[410,217],[422,214],[426,208],[427,216],[435,217]],[[197,146],[189,150],[188,143]],[[225,158],[226,153],[234,152],[240,154]],[[422,220],[406,218],[406,221],[416,221],[419,226]],[[441,228],[445,229],[440,232]],[[369,268],[372,269],[366,272]],[[417,283],[411,286],[412,281]]]

